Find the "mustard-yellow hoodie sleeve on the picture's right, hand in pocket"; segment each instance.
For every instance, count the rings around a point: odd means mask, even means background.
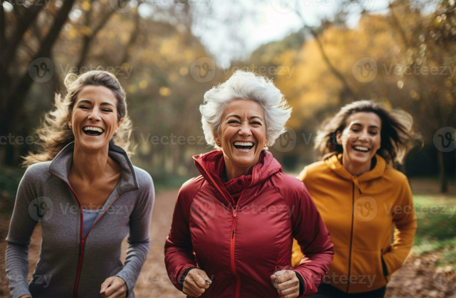
[[[389,251],[383,254],[388,275],[399,269],[413,246],[416,231],[416,215],[413,207],[413,196],[407,179],[400,187],[396,205],[401,212],[393,213],[394,243]]]

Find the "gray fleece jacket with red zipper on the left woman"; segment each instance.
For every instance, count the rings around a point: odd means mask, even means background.
[[[5,252],[12,297],[101,297],[101,284],[114,275],[124,279],[128,297],[134,297],[150,246],[152,178],[110,142],[108,154],[119,162],[122,176],[83,238],[82,207],[68,182],[73,149],[74,142],[51,162],[32,165],[19,184]],[[41,251],[29,285],[28,246],[38,221]],[[121,243],[129,232],[122,264]]]

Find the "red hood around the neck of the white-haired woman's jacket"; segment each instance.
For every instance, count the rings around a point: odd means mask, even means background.
[[[275,173],[283,171],[282,166],[272,156],[271,152],[263,150],[260,154],[260,161],[252,168],[252,182],[250,183],[248,188],[261,184],[268,180],[269,177],[271,177]],[[207,158],[208,156],[210,156],[211,158]],[[211,152],[193,156],[195,166],[197,167],[201,175],[204,177],[204,179],[206,179],[207,183],[209,183],[209,185],[214,190],[217,190],[218,194],[225,197],[225,199],[228,200],[228,202],[230,202],[231,200],[229,200],[223,194],[222,186],[218,185],[218,183],[216,182],[218,179],[214,179],[214,177],[212,177],[212,175],[210,174],[212,171],[210,171],[209,169],[213,169],[215,167],[215,162],[216,160],[218,160],[218,158],[223,158],[223,151],[213,150]]]

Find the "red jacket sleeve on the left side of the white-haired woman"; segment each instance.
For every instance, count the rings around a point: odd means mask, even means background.
[[[182,291],[182,275],[187,274],[189,268],[197,267],[189,228],[191,202],[192,191],[184,184],[177,195],[171,229],[165,242],[166,271],[179,291]]]

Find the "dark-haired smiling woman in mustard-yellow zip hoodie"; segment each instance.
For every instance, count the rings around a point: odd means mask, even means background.
[[[325,125],[321,161],[299,175],[334,243],[334,260],[314,297],[383,297],[413,245],[416,217],[407,177],[392,166],[409,150],[412,118],[355,101]],[[394,242],[392,229],[394,227]],[[292,264],[307,262],[293,244]]]

